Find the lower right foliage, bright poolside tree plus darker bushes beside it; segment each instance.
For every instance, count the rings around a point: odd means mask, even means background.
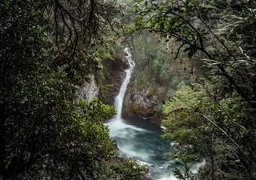
[[[246,135],[248,134],[246,129],[249,127],[242,129],[241,126],[248,125],[250,117],[246,117],[246,114],[250,113],[246,110],[246,105],[241,98],[223,98],[219,103],[220,105],[214,103],[202,86],[197,84],[192,87],[181,86],[163,106],[166,119],[162,121],[162,125],[166,129],[163,130],[162,137],[179,142],[181,155],[185,158],[189,158],[190,155],[193,157],[194,154],[206,158],[209,163],[206,164],[202,173],[204,170],[210,171],[211,178],[224,176],[247,179],[248,175],[244,172],[246,169],[243,167],[242,159],[235,158],[237,157],[235,154],[238,154],[237,148],[247,144],[243,141],[249,141]],[[237,134],[238,132],[240,135]],[[243,136],[246,138],[242,138]],[[228,148],[223,150],[223,146]],[[250,153],[246,152],[246,154]],[[223,157],[230,158],[224,160]],[[217,166],[215,164],[217,162],[222,166]],[[183,162],[182,166],[186,166],[187,163],[190,162]],[[232,168],[226,168],[226,166]],[[185,171],[189,172],[189,169],[185,168]],[[182,172],[179,169],[175,170],[175,174],[184,179]]]

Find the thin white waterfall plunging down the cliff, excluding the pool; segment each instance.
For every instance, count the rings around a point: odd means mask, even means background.
[[[114,106],[115,106],[115,110],[117,112],[116,116],[115,116],[115,120],[121,120],[121,116],[122,116],[122,102],[123,102],[123,98],[126,94],[126,89],[127,89],[127,85],[130,82],[130,77],[131,77],[131,73],[134,70],[134,66],[135,66],[135,62],[132,59],[130,50],[128,47],[126,47],[124,49],[126,55],[126,60],[129,63],[129,68],[127,70],[125,70],[126,72],[126,78],[124,78],[123,82],[122,82],[122,86],[119,90],[119,94],[118,96],[115,98],[115,102],[114,102]]]

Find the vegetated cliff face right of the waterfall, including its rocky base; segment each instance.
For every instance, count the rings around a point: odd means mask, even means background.
[[[144,32],[133,43],[134,72],[123,103],[123,115],[162,118],[161,104],[173,84],[170,55],[154,35]]]

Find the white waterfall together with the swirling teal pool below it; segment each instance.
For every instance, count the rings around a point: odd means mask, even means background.
[[[135,66],[129,49],[125,48],[124,51],[129,68],[125,70],[126,77],[115,98],[117,114],[105,123],[110,128],[110,138],[117,141],[123,156],[149,166],[150,177],[154,180],[176,180],[172,174],[175,163],[165,157],[166,152],[174,150],[174,146],[160,137],[161,128],[142,119],[122,118],[122,102]]]

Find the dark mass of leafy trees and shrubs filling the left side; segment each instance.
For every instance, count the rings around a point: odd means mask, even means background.
[[[0,179],[141,179],[146,173],[116,156],[102,124],[114,108],[77,96],[77,85],[110,57],[106,34],[112,36],[116,12],[114,3],[102,1],[1,2]]]

